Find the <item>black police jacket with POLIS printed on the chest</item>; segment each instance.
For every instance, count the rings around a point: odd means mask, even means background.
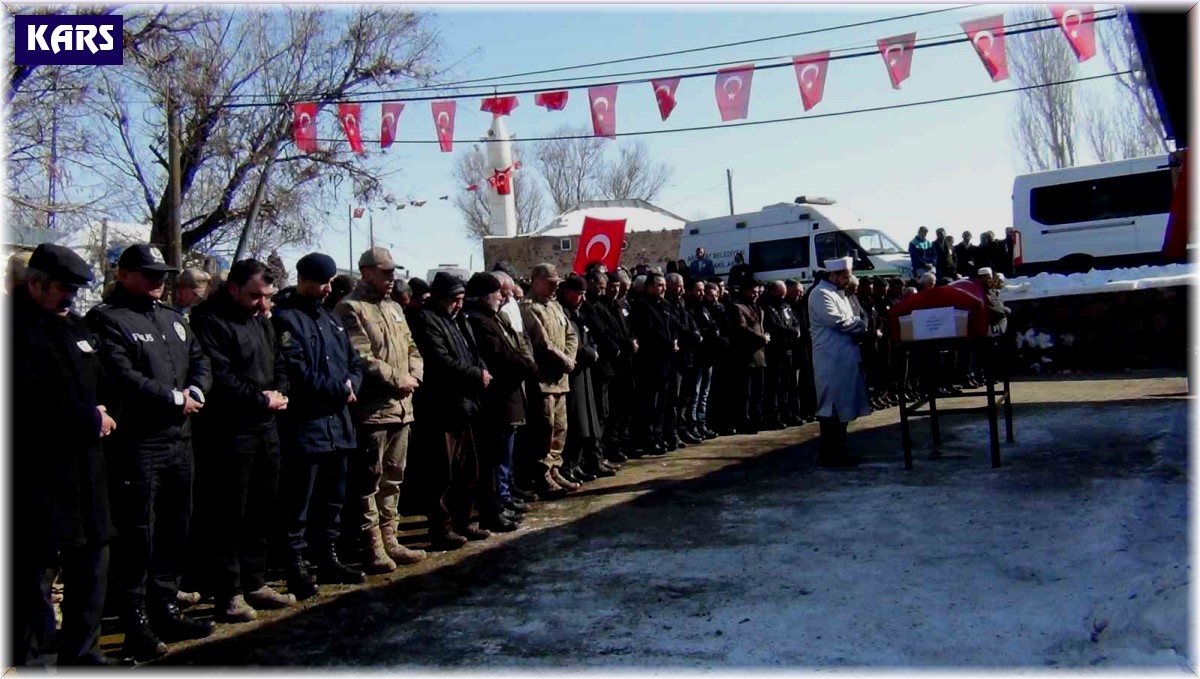
[[[196,386],[208,395],[212,374],[184,314],[136,298],[118,283],[86,320],[100,340],[101,365],[113,384],[113,413],[120,414],[107,445],[115,450],[190,439],[191,421],[175,392]]]

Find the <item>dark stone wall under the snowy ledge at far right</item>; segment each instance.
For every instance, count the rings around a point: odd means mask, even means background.
[[[1007,302],[1009,330],[1034,340],[1018,340],[1014,367],[1024,373],[1187,369],[1192,294],[1180,286]]]

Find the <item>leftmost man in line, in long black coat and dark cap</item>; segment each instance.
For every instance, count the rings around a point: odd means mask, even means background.
[[[62,601],[58,665],[108,665],[100,619],[115,530],[101,439],[116,422],[100,393],[96,340],[72,313],[91,269],[72,250],[40,245],[12,292],[11,636],[16,666],[41,665],[54,633],[56,569]]]

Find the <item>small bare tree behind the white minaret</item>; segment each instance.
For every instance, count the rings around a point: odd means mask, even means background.
[[[514,161],[521,160],[521,146],[514,144]],[[512,173],[512,197],[517,208],[517,233],[528,234],[544,224],[546,215],[545,198],[538,186],[532,167],[522,167]],[[458,182],[458,192],[454,205],[462,215],[467,234],[476,240],[492,233],[491,215],[487,210],[487,196],[491,187],[487,178],[492,175],[487,166],[487,154],[475,144],[466,154],[460,154],[455,161],[454,176]],[[475,191],[467,187],[475,186]]]

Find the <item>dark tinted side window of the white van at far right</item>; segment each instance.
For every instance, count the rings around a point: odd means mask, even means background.
[[[1174,191],[1169,169],[1039,186],[1030,190],[1030,217],[1054,226],[1159,215],[1171,211]]]

